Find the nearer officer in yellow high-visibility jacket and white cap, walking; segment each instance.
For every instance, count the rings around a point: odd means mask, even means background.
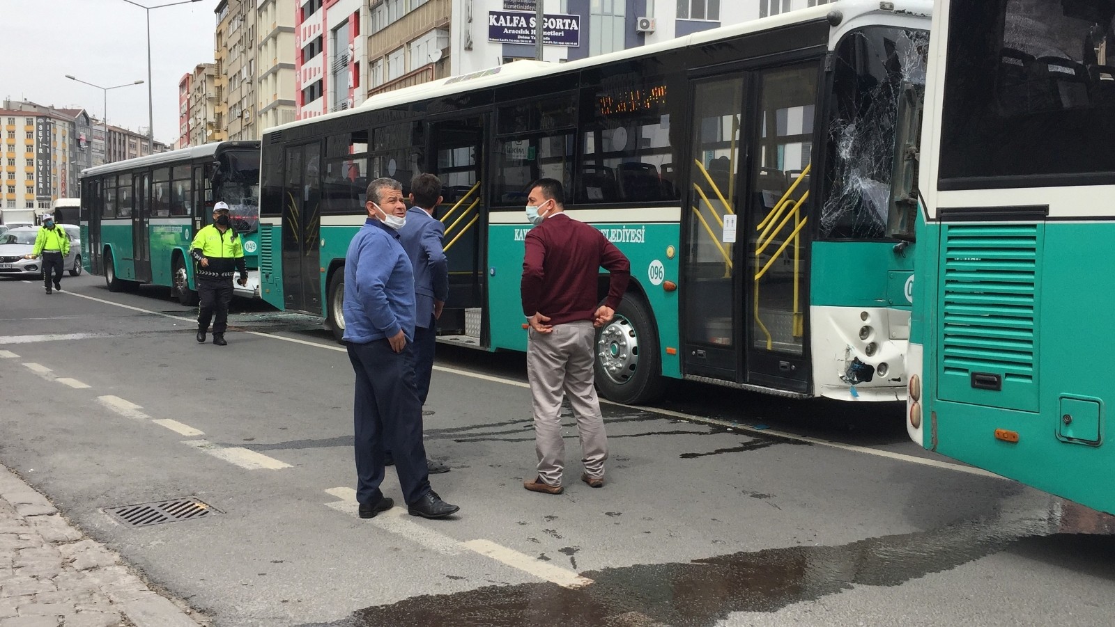
[[[213,224],[197,232],[190,248],[190,255],[197,262],[194,273],[200,303],[197,341],[205,342],[205,333],[209,332],[210,322],[213,322],[213,343],[224,346],[229,343],[224,340],[224,332],[229,326],[234,271],[240,271],[237,283],[248,285],[244,244],[236,229],[232,228],[226,203],[213,205]]]

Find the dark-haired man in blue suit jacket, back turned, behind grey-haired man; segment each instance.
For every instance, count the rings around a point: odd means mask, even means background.
[[[419,174],[414,177],[407,223],[399,229],[399,243],[415,272],[415,384],[423,405],[426,404],[434,372],[437,319],[442,316],[442,307],[449,295],[449,264],[442,249],[445,226],[434,217],[434,209],[442,200],[442,182],[436,176]],[[439,474],[448,472],[449,467],[427,458],[426,470],[430,474]]]

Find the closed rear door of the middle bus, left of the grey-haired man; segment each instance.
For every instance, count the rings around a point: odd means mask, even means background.
[[[321,141],[287,146],[283,168],[282,291],[285,308],[321,315]]]

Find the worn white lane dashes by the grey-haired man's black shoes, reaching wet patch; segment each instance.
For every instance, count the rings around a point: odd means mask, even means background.
[[[328,507],[349,516],[359,516],[360,506],[356,502],[356,490],[352,488],[330,488],[326,490],[326,493],[341,499],[326,503]],[[438,533],[428,527],[403,518],[405,515],[409,516],[406,512],[406,504],[396,503],[396,507],[380,512],[367,522],[440,553],[459,555],[462,549],[467,549],[505,566],[533,575],[539,579],[552,581],[566,588],[580,588],[581,586],[592,584],[592,579],[588,577],[581,577],[572,570],[546,564],[529,555],[497,545],[492,540],[477,539],[463,542],[444,533]]]

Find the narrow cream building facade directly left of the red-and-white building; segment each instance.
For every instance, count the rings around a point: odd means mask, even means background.
[[[294,121],[294,1],[259,0],[256,7],[256,133]]]

